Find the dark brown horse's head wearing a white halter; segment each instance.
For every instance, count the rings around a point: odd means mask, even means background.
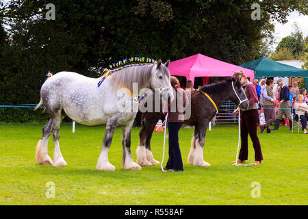
[[[229,100],[233,101],[236,105],[240,105],[241,109],[247,109],[248,107],[248,99],[242,88],[240,77],[232,77],[230,79]]]

